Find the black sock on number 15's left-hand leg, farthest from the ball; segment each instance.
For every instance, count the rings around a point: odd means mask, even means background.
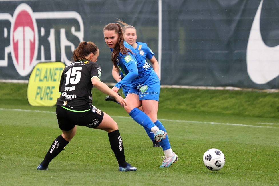
[[[45,159],[42,161],[42,165],[44,167],[47,167],[49,162],[55,158],[68,144],[69,142],[66,141],[62,135],[58,136],[52,143],[51,147],[47,151],[47,154],[45,155]]]

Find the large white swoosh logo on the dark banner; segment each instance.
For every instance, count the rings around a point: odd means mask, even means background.
[[[247,72],[256,84],[265,84],[279,75],[279,45],[266,46],[260,32],[262,2],[256,12],[247,44]]]

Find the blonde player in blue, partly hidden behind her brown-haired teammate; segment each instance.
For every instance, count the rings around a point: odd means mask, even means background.
[[[141,42],[136,42],[137,40],[137,30],[135,29],[135,27],[128,25],[127,23],[124,23],[123,21],[121,21],[119,19],[119,21],[117,21],[119,23],[121,23],[122,25],[124,25],[123,27],[123,33],[124,33],[124,40],[129,43],[131,46],[133,46],[133,48],[135,50],[137,50],[139,52],[139,54],[144,58],[144,59],[148,59],[150,60],[150,62],[152,63],[152,67],[153,70],[156,72],[157,76],[159,77],[159,64],[158,61],[155,58],[155,54],[152,52],[152,50],[150,50],[150,48],[147,46],[146,43],[141,43]],[[119,82],[121,79],[119,78],[119,71],[118,69],[116,69],[114,66],[112,68],[112,76],[113,78]],[[127,96],[129,90],[130,90],[131,84],[127,84],[124,85],[122,87],[123,93],[125,95],[125,97]],[[105,98],[106,101],[115,101],[116,100],[111,97],[111,96],[107,96]],[[141,107],[139,107],[140,110],[142,110]],[[153,142],[153,147],[161,147],[160,144],[154,140],[154,133],[150,132],[150,130],[144,128],[146,130],[146,133],[148,134],[150,140]]]

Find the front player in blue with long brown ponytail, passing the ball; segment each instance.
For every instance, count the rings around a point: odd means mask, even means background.
[[[103,29],[105,42],[112,51],[111,60],[121,70],[119,81],[112,88],[114,92],[131,83],[127,94],[125,110],[138,124],[152,131],[154,139],[163,148],[164,160],[160,167],[170,167],[178,157],[172,151],[166,129],[157,119],[160,80],[152,67],[131,45],[124,41],[123,29],[118,23],[110,23]],[[142,106],[142,110],[138,107]]]

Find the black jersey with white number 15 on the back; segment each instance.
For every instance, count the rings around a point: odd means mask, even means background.
[[[80,60],[66,66],[62,72],[57,105],[70,110],[84,111],[92,103],[92,77],[101,77],[101,67],[89,60]]]

